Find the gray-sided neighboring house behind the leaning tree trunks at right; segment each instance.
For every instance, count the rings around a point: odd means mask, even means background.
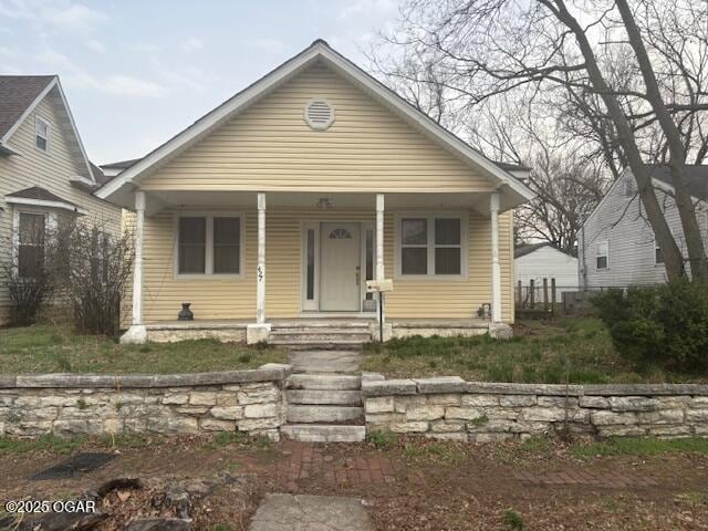
[[[684,258],[684,231],[673,198],[671,171],[652,166],[654,187]],[[698,225],[708,243],[708,166],[688,166],[689,189],[698,210]],[[629,168],[612,185],[590,215],[579,238],[582,288],[625,288],[666,282],[666,267],[646,220],[637,185]]]

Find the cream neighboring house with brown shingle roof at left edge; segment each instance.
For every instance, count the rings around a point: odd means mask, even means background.
[[[31,275],[48,228],[62,218],[119,231],[121,208],[93,195],[106,180],[86,157],[58,76],[0,75],[0,263]],[[6,272],[0,325],[10,313]]]

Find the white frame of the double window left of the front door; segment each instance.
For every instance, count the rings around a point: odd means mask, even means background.
[[[180,210],[174,216],[173,222],[173,274],[179,280],[215,280],[215,279],[243,279],[246,271],[246,216],[241,211],[219,210]],[[205,262],[204,273],[180,273],[179,272],[179,218],[205,218]],[[239,272],[238,273],[215,273],[214,272],[214,218],[239,218]]]

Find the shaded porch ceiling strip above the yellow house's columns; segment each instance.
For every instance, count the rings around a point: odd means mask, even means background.
[[[253,209],[257,205],[256,191],[187,191],[187,190],[150,190],[146,191],[147,215],[154,215],[166,208],[221,208],[221,209]],[[351,208],[375,210],[376,194],[356,192],[268,192],[268,209],[294,208],[322,210]],[[427,209],[472,209],[479,214],[489,214],[490,192],[440,192],[440,194],[385,194],[386,209],[400,210],[405,208]],[[503,198],[503,191],[502,191]],[[502,210],[504,209],[502,200]],[[507,205],[506,209],[511,208]]]

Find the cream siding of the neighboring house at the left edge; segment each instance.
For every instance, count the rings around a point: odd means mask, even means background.
[[[69,177],[85,175],[85,167],[76,167],[69,149],[64,133],[60,129],[61,118],[56,113],[55,95],[50,93],[11,137],[9,145],[19,153],[0,157],[0,260],[8,259],[12,233],[13,206],[4,201],[4,196],[31,186],[40,186],[58,196],[88,210],[88,220],[102,223],[106,230],[117,232],[121,228],[121,208],[101,200],[72,186]],[[49,153],[34,147],[34,118],[40,116],[50,122]],[[86,218],[82,218],[86,219]],[[7,290],[0,282],[0,324],[7,316],[9,304]]]

